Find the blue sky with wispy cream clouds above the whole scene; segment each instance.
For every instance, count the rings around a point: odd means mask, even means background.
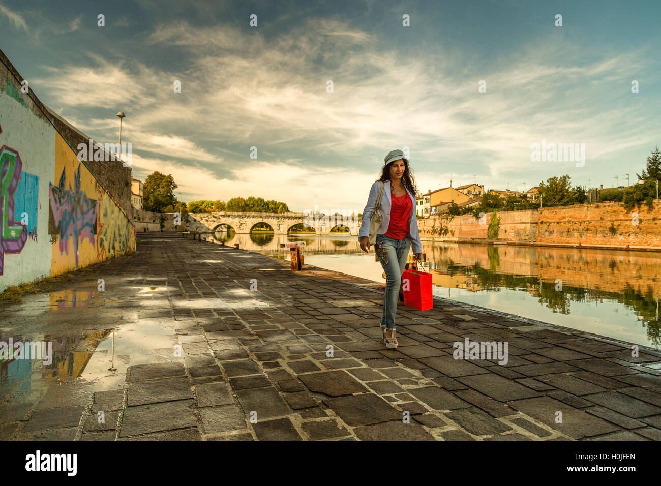
[[[657,0],[0,0],[0,48],[98,142],[124,111],[134,177],[171,173],[184,200],[360,212],[393,148],[422,192],[634,181],[661,145],[659,19]],[[531,161],[542,140],[584,143],[584,166]]]

